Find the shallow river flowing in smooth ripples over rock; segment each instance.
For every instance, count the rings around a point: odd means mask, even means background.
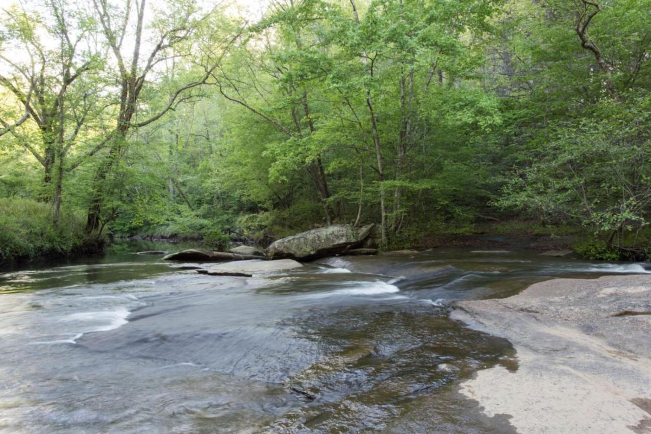
[[[111,253],[0,274],[0,431],[503,433],[456,392],[517,369],[452,300],[649,272],[535,252],[337,257],[253,278]]]

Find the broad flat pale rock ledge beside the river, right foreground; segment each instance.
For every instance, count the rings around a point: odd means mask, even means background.
[[[651,276],[555,279],[453,306],[452,319],[518,353],[517,371],[460,386],[487,416],[518,433],[651,433]]]

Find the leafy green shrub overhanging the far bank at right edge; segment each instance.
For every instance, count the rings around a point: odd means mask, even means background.
[[[536,160],[516,172],[497,201],[577,224],[606,242],[646,224],[651,204],[651,98],[605,101],[578,121],[549,126]]]

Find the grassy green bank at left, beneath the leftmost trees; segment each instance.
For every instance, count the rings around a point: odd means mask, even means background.
[[[22,197],[0,198],[0,264],[66,256],[85,247],[82,212],[62,210],[58,227],[52,207]]]

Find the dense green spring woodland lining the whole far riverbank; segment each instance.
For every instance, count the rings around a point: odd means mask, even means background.
[[[651,0],[22,0],[0,22],[0,259],[105,237],[648,253]]]

